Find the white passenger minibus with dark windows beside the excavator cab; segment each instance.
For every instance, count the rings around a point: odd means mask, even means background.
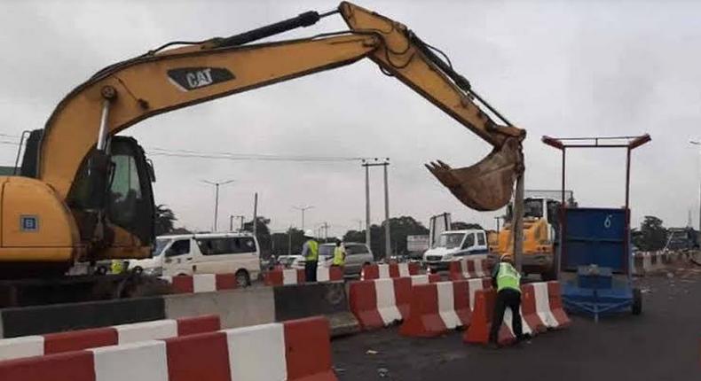
[[[153,257],[130,260],[129,268],[154,276],[235,274],[238,284],[249,285],[260,274],[260,251],[248,233],[160,236]]]

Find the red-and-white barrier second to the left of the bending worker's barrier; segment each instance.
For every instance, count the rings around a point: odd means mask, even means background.
[[[404,320],[409,313],[412,282],[410,277],[351,282],[350,312],[360,328],[372,330]]]

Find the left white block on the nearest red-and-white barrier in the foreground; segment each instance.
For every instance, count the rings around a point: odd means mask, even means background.
[[[91,349],[97,381],[168,381],[168,358],[163,341]]]

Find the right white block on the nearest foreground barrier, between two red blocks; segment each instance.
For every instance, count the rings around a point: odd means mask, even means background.
[[[232,380],[287,379],[283,324],[254,325],[225,332]]]

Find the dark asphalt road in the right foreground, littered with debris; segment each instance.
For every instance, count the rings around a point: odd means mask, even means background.
[[[336,373],[342,381],[701,380],[701,269],[637,282],[645,290],[642,315],[599,323],[571,316],[569,329],[547,332],[521,348],[469,346],[455,331],[404,338],[389,328],[337,338]]]

